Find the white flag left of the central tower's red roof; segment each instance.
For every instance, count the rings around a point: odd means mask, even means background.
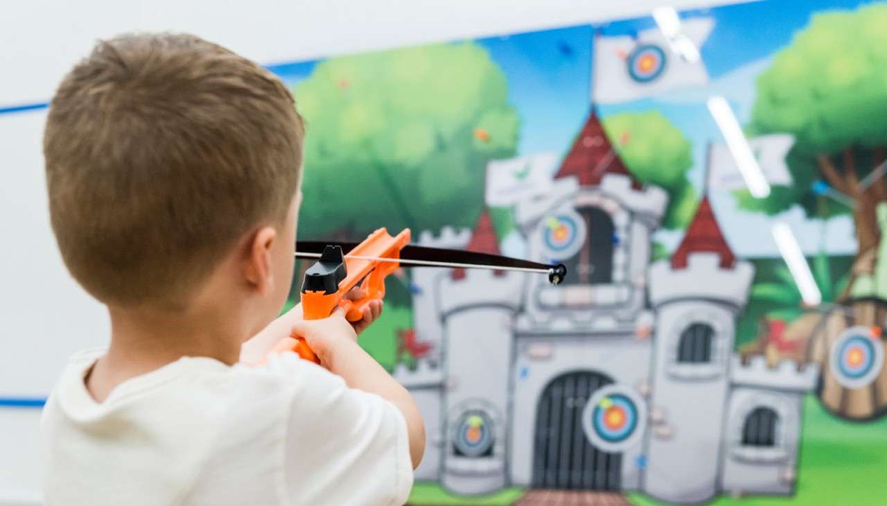
[[[559,160],[556,152],[492,160],[487,164],[487,206],[513,206],[546,191]]]

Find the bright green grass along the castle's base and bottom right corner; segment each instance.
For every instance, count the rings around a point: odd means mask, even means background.
[[[711,506],[862,506],[887,504],[887,417],[867,423],[844,422],[822,409],[812,395],[805,399],[804,428],[794,496],[720,496]],[[522,495],[513,487],[497,494],[462,497],[434,483],[417,483],[410,504],[506,505]],[[637,506],[662,506],[645,494],[626,494]]]

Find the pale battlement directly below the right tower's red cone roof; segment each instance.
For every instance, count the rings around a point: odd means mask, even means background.
[[[748,300],[755,269],[746,261],[726,269],[720,262],[717,253],[690,253],[684,269],[673,269],[671,261],[655,262],[649,270],[650,302],[659,307],[675,300],[718,300],[738,311]]]

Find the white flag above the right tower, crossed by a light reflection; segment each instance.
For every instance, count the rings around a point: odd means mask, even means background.
[[[791,146],[795,144],[795,136],[791,134],[771,134],[751,137],[749,147],[755,155],[757,165],[761,167],[767,183],[789,186],[792,183],[789,166],[785,157]],[[733,154],[726,144],[712,144],[709,159],[709,184],[711,188],[721,190],[740,190],[745,188],[745,181],[736,167]]]

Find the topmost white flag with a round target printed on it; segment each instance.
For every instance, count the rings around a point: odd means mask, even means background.
[[[709,37],[714,20],[686,19],[680,27],[698,49]],[[657,28],[643,30],[636,37],[595,37],[592,66],[592,99],[598,104],[629,102],[709,81],[702,60],[691,63],[671,51],[665,35]]]

